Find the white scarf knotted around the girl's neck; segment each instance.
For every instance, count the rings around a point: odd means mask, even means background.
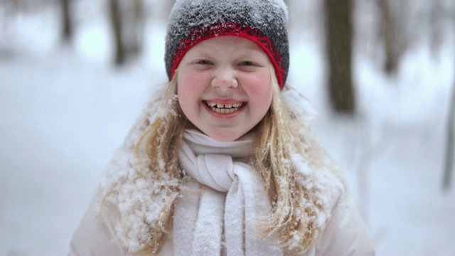
[[[235,142],[218,142],[186,130],[178,162],[205,186],[186,181],[188,191],[178,198],[174,255],[282,255],[262,238],[258,225],[270,206],[259,174],[241,162],[252,152],[251,134]]]

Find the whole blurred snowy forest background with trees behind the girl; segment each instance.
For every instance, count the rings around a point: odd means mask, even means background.
[[[0,255],[66,255],[149,95],[171,0],[0,0]],[[455,255],[455,1],[287,0],[287,83],[377,255]]]

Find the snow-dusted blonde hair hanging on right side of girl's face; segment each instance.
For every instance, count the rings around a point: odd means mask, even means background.
[[[321,188],[311,185],[313,176],[304,175],[293,159],[296,154],[309,168],[328,167],[326,151],[316,142],[298,111],[283,102],[274,79],[269,113],[257,125],[253,166],[262,176],[272,202],[266,235],[275,235],[289,254],[304,253],[319,232],[318,214],[323,212]]]

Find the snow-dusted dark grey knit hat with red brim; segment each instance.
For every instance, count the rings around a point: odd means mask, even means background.
[[[177,0],[166,34],[169,80],[190,48],[215,36],[239,36],[256,43],[274,65],[279,87],[284,86],[289,42],[283,0]]]

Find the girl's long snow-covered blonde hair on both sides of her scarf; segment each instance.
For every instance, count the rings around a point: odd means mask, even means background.
[[[184,177],[176,159],[189,124],[175,100],[176,88],[174,77],[165,97],[154,102],[167,114],[159,114],[147,124],[136,140],[136,171],[127,174],[130,181],[125,188],[112,191],[113,196],[139,198],[122,205],[117,226],[117,236],[131,253],[156,255],[171,227],[173,205]],[[277,246],[291,254],[308,250],[326,223],[328,179],[333,177],[330,173],[336,173],[326,151],[293,109],[282,102],[274,79],[269,113],[255,127],[257,150],[251,163],[272,202],[272,215],[259,220],[266,229],[264,236],[276,238]],[[145,185],[149,187],[141,190]],[[109,198],[108,193],[106,198],[109,203],[116,197]]]

